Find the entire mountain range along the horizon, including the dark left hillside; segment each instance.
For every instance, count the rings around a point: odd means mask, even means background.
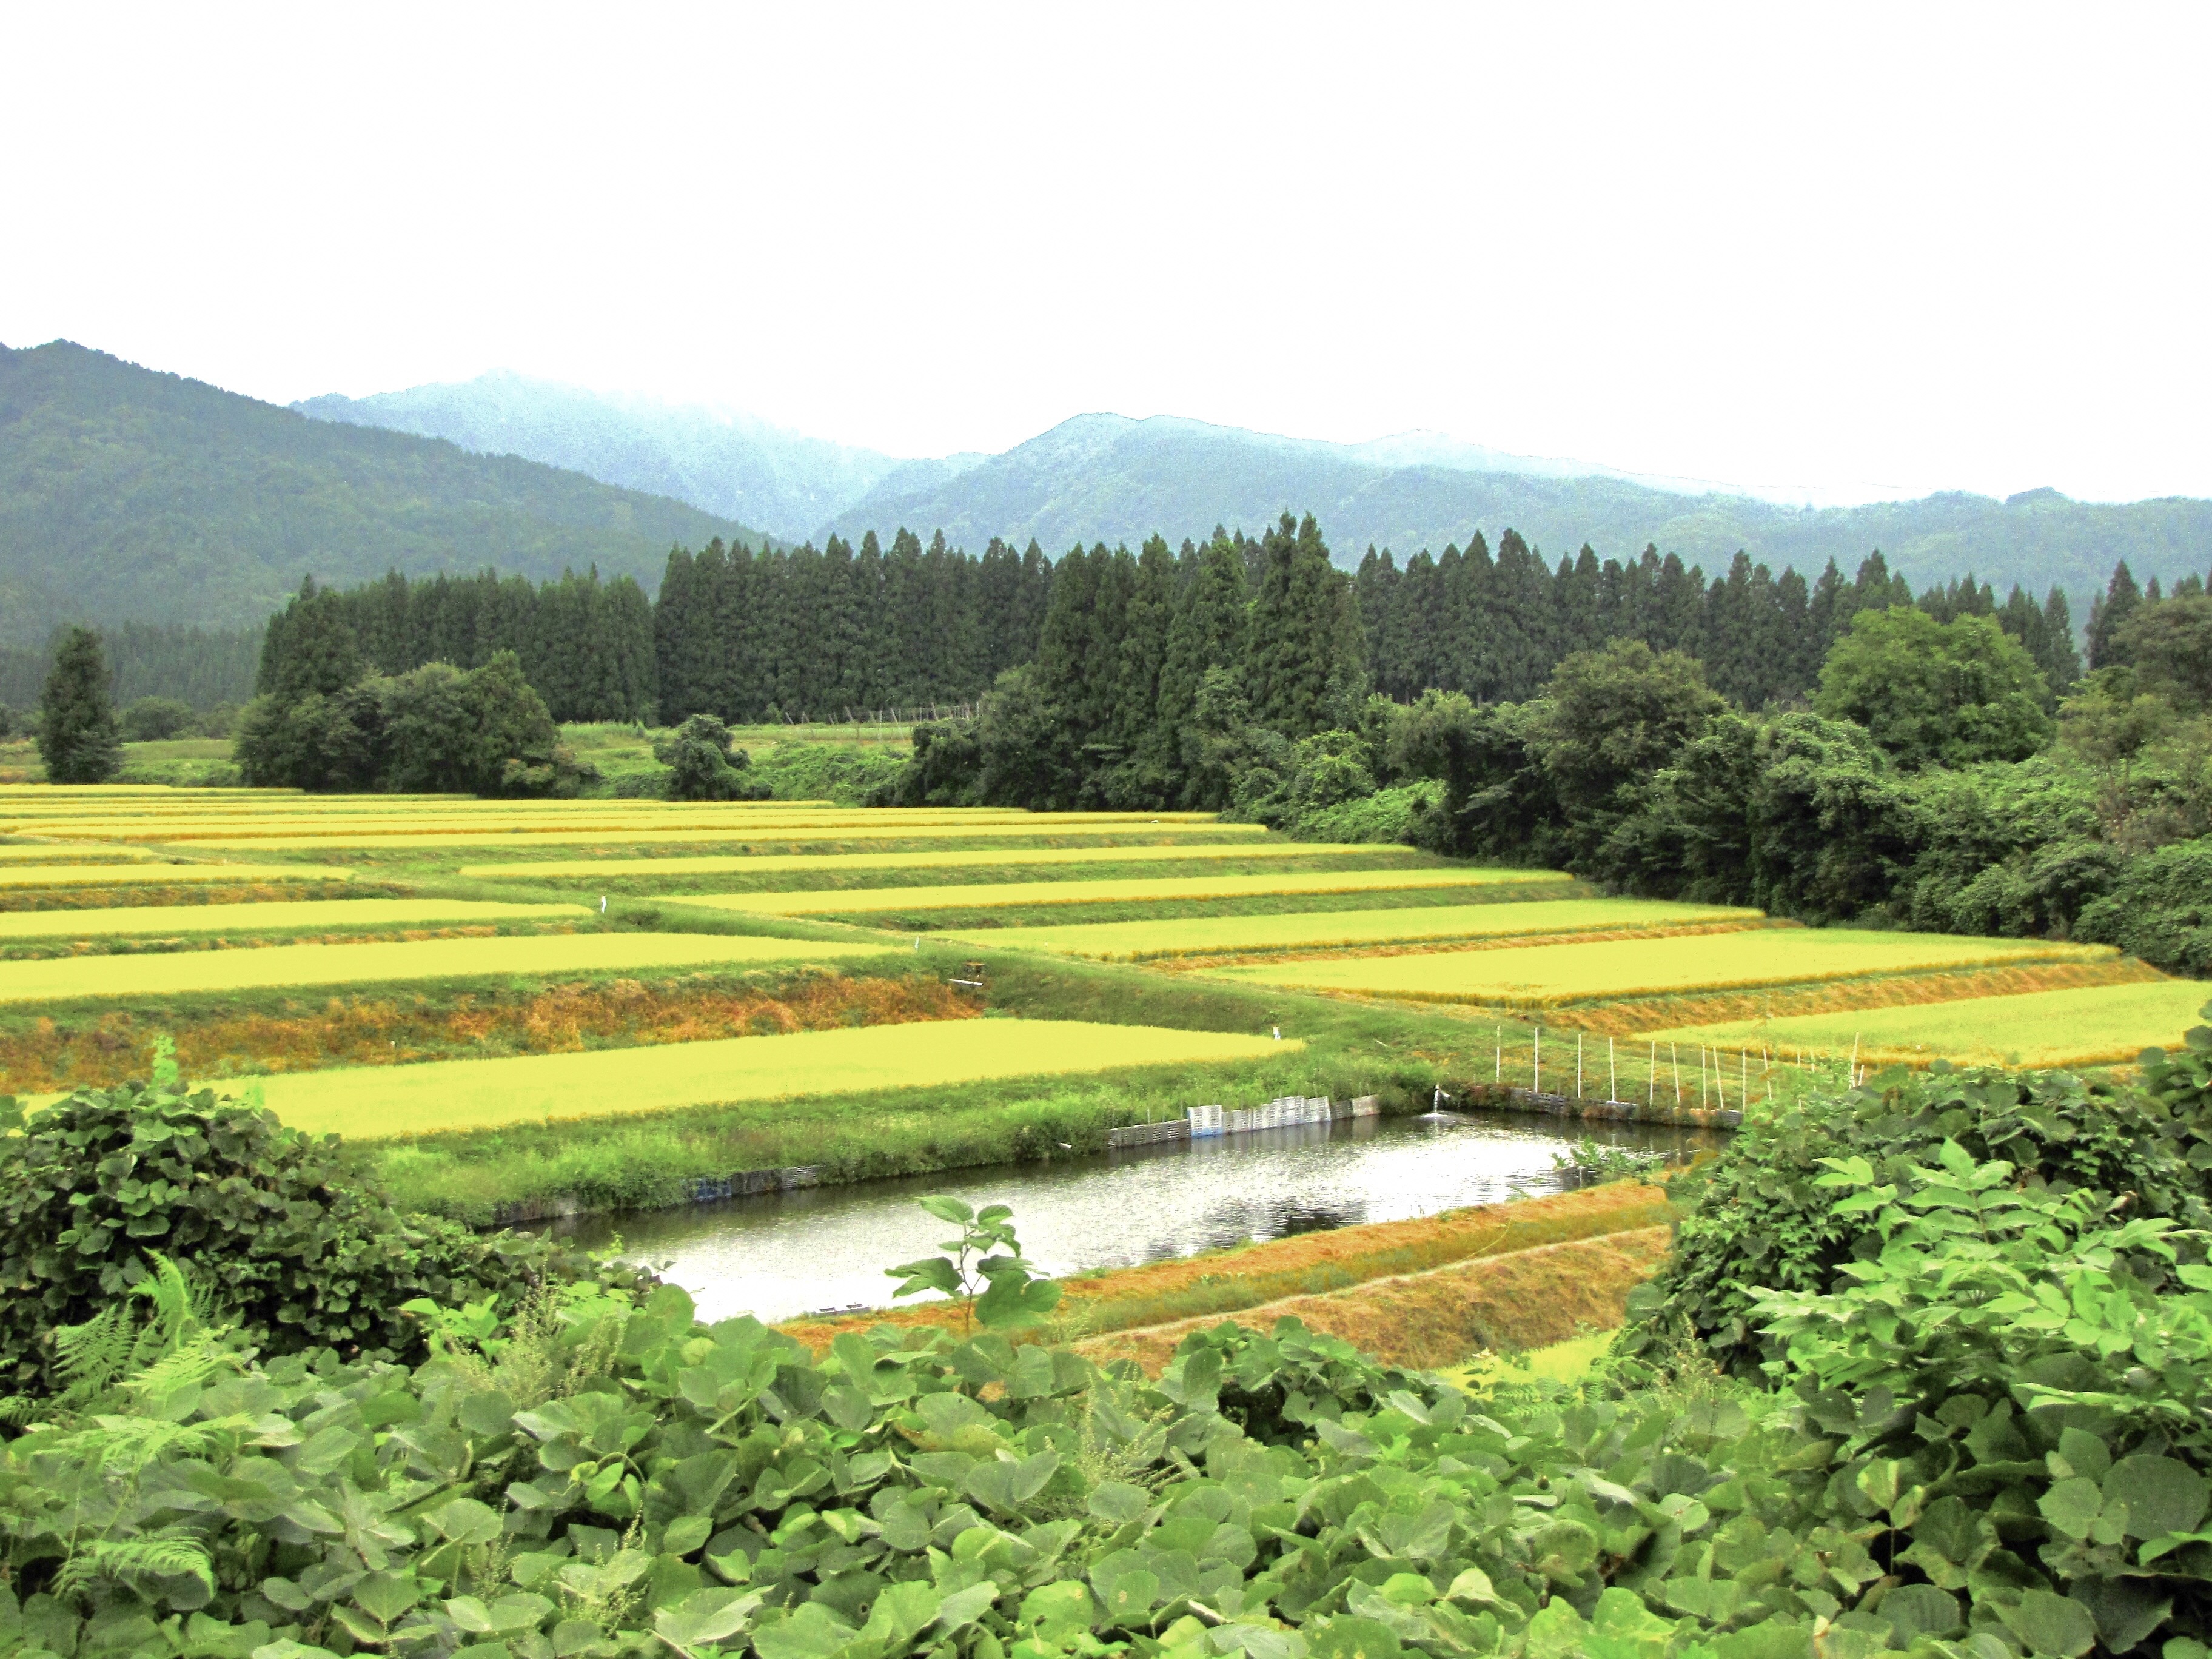
[[[597,566],[648,591],[668,549],[710,538],[823,542],[898,526],[980,551],[993,535],[1170,542],[1314,513],[1340,564],[1495,546],[1548,557],[1648,542],[1719,571],[1845,573],[1874,549],[1916,584],[1966,571],[2051,586],[2086,615],[2128,560],[2139,580],[2212,566],[2212,502],[1938,493],[1792,507],[1577,462],[1402,434],[1369,445],[1199,420],[1086,414],[998,456],[900,460],[730,411],[608,398],[511,374],[283,409],[69,341],[0,347],[0,648],[69,619],[259,626],[303,575],[356,584],[493,566]]]

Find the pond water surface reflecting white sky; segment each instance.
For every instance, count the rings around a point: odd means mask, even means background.
[[[931,1254],[949,1234],[914,1199],[949,1192],[1011,1203],[1024,1254],[1046,1274],[1133,1267],[1250,1239],[1400,1221],[1571,1181],[1553,1152],[1582,1139],[1686,1150],[1699,1130],[1644,1124],[1442,1113],[1298,1124],[1261,1135],[1141,1146],[1051,1166],[958,1170],[860,1186],[723,1199],[684,1210],[584,1219],[586,1243],[622,1237],[701,1318],[787,1318],[821,1307],[883,1307],[883,1270]]]

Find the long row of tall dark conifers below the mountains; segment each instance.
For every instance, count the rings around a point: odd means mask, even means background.
[[[2097,602],[2093,644],[2108,604],[2119,615],[2130,602],[2126,573],[2115,595]],[[513,650],[560,721],[836,721],[971,703],[1033,664],[1066,739],[1124,757],[1181,728],[1210,666],[1234,670],[1254,717],[1279,730],[1312,730],[1327,697],[1367,688],[1524,699],[1566,655],[1615,637],[1699,657],[1745,708],[1787,703],[1812,690],[1858,611],[1891,604],[1995,615],[2053,692],[2081,672],[2057,588],[2042,604],[2017,586],[2000,602],[1969,575],[1916,597],[1880,553],[1851,577],[1832,562],[1812,582],[1743,553],[1712,580],[1657,549],[1624,564],[1584,546],[1548,566],[1513,531],[1495,555],[1482,535],[1405,564],[1369,549],[1347,575],[1318,524],[1287,513],[1259,538],[1217,529],[1172,551],[1155,535],[1135,553],[1077,546],[1057,562],[1037,542],[1018,553],[993,538],[969,555],[911,531],[889,551],[874,533],[858,549],[712,542],[675,549],[650,602],[633,580],[595,571],[542,586],[489,571],[394,573],[336,597],[380,672],[467,670]],[[288,650],[285,615],[268,630],[263,688]]]

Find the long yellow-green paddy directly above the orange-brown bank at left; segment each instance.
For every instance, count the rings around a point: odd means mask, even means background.
[[[883,945],[750,933],[560,933],[376,945],[270,945],[177,956],[71,956],[0,962],[0,1002],[157,998],[263,987],[425,984],[495,973],[628,973],[741,962],[834,962],[883,956]]]

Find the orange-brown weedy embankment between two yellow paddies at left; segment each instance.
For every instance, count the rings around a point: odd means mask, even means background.
[[[223,1082],[980,1013],[967,991],[905,964],[898,973],[860,978],[818,964],[551,982],[509,975],[436,993],[403,987],[307,1000],[281,989],[230,991],[122,1009],[93,1004],[80,1018],[0,1011],[0,1093],[44,1095],[144,1077],[157,1037],[175,1044],[184,1075]]]

